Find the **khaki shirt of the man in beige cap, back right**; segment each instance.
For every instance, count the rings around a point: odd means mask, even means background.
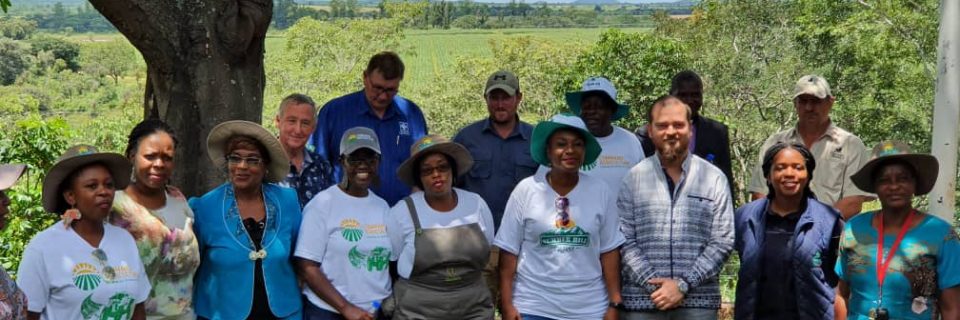
[[[767,193],[767,180],[763,178],[761,169],[763,154],[777,142],[803,144],[803,139],[796,127],[780,131],[767,138],[757,156],[757,165],[752,170],[753,178],[750,179],[748,187],[750,192]],[[849,196],[871,196],[854,186],[853,180],[850,180],[850,176],[870,160],[870,152],[859,137],[831,123],[823,136],[817,139],[810,149],[817,161],[810,189],[816,194],[818,200],[833,205],[837,200]]]

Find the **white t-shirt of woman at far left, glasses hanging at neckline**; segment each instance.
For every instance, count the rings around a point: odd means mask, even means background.
[[[48,320],[130,319],[150,296],[137,245],[126,230],[105,224],[99,249],[102,255],[62,223],[37,234],[17,272],[27,309]]]

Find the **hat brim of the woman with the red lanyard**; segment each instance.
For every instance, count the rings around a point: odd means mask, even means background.
[[[860,190],[877,193],[874,184],[875,179],[872,175],[877,167],[889,163],[889,161],[903,161],[913,167],[913,170],[917,173],[916,195],[929,193],[930,190],[933,190],[933,185],[937,183],[940,162],[931,155],[916,153],[889,155],[870,160],[857,173],[850,176],[850,180],[853,180],[853,184]]]

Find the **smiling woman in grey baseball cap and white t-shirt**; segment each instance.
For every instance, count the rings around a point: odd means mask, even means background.
[[[370,128],[354,127],[340,139],[343,178],[303,208],[297,267],[304,319],[373,320],[390,294],[390,206],[370,187],[379,183],[380,142]]]

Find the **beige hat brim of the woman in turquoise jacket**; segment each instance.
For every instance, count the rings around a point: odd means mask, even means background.
[[[244,120],[233,120],[221,123],[210,130],[207,135],[207,155],[217,167],[226,165],[226,144],[232,137],[247,136],[257,140],[266,149],[270,158],[270,166],[267,167],[267,182],[280,182],[287,177],[290,172],[290,158],[286,151],[280,146],[280,140],[274,137],[267,129],[259,124]]]

